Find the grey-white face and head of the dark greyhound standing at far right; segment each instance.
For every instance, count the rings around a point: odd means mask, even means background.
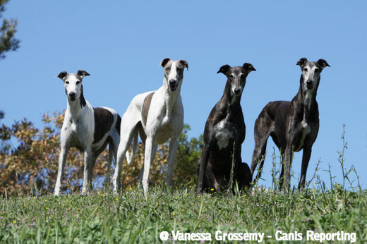
[[[304,91],[314,91],[317,90],[318,84],[320,83],[320,73],[323,68],[330,65],[325,61],[325,59],[319,59],[317,62],[307,61],[306,58],[299,59],[296,63],[301,67],[301,86]],[[302,79],[303,77],[303,79]]]

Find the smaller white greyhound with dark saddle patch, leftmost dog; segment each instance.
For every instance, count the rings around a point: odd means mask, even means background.
[[[57,75],[58,78],[64,81],[68,107],[60,133],[61,152],[55,195],[60,194],[61,177],[64,174],[66,155],[70,147],[76,147],[84,152],[83,193],[91,186],[95,161],[107,147],[107,144],[109,145],[107,181],[109,181],[112,158],[116,158],[117,148],[119,147],[121,117],[114,109],[107,107],[93,108],[85,100],[82,80],[87,75],[90,74],[82,70],[78,73],[69,74],[63,71]]]

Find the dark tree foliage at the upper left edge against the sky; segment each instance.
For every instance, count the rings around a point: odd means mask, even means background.
[[[3,17],[5,11],[5,4],[9,0],[0,0],[0,18]],[[6,51],[15,51],[19,47],[19,39],[16,39],[16,25],[17,20],[11,18],[4,19],[0,26],[0,60],[5,58]]]

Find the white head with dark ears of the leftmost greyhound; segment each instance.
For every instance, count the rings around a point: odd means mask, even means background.
[[[90,75],[87,71],[80,70],[78,73],[67,73],[62,71],[56,77],[64,81],[66,96],[71,102],[76,101],[80,96],[83,96],[82,80],[85,76]]]

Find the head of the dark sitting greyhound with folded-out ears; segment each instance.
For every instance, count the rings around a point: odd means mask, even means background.
[[[229,85],[231,94],[239,97],[246,85],[247,75],[251,71],[256,71],[251,63],[243,63],[243,66],[231,67],[228,64],[219,68],[217,73],[224,73],[227,76],[227,85]]]

